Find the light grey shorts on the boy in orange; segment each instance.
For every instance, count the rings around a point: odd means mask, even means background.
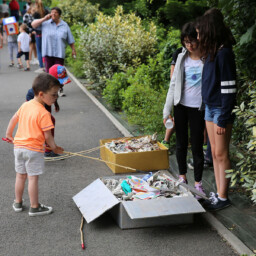
[[[15,171],[29,176],[44,173],[44,153],[28,150],[25,148],[15,148]]]

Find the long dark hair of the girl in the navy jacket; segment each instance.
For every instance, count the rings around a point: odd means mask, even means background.
[[[235,44],[231,30],[225,25],[222,13],[216,8],[196,20],[196,29],[199,33],[199,49],[204,58],[210,55],[213,60],[221,46],[232,47]]]

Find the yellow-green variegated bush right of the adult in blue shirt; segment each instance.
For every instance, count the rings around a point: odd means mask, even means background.
[[[103,82],[114,73],[137,67],[155,52],[156,27],[150,31],[135,14],[123,14],[119,6],[115,16],[100,13],[95,24],[89,24],[81,35],[84,72],[92,81]]]

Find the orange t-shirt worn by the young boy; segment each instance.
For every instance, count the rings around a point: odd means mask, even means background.
[[[22,104],[16,112],[19,118],[14,148],[44,152],[44,132],[54,128],[51,114],[35,99]]]

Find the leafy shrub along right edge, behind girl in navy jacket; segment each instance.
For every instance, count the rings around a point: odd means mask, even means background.
[[[213,3],[216,6],[216,3]],[[232,29],[237,44],[234,47],[238,69],[237,119],[233,127],[233,143],[237,146],[238,163],[228,173],[232,185],[247,189],[256,203],[256,5],[250,0],[219,1],[225,21]]]

